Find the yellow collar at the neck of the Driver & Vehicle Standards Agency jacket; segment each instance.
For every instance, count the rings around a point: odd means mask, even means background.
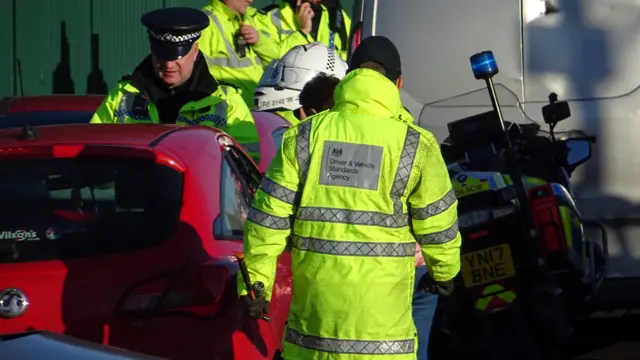
[[[370,69],[349,72],[334,92],[333,110],[397,118],[400,91],[384,75]]]

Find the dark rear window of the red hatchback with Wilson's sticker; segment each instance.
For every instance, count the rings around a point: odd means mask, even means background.
[[[182,174],[149,161],[0,162],[0,263],[142,250],[178,223]]]

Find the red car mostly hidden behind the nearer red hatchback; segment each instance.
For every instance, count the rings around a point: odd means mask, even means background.
[[[91,121],[102,95],[45,95],[25,98],[0,99],[0,129],[23,126],[25,109],[29,124],[62,125],[82,124]],[[260,137],[259,168],[266,172],[275,152],[280,148],[282,134],[290,126],[282,117],[262,112],[252,112]]]

